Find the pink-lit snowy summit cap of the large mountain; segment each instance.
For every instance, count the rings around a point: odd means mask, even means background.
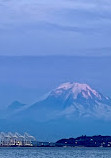
[[[54,94],[57,96],[62,95],[64,92],[67,92],[67,97],[69,95],[73,95],[74,99],[77,99],[79,95],[85,99],[102,99],[102,96],[99,92],[92,89],[88,84],[85,83],[66,82],[54,90]]]

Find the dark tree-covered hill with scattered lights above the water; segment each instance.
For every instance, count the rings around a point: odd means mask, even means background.
[[[73,147],[111,147],[111,136],[81,136],[77,138],[60,139],[56,146],[73,146]]]

